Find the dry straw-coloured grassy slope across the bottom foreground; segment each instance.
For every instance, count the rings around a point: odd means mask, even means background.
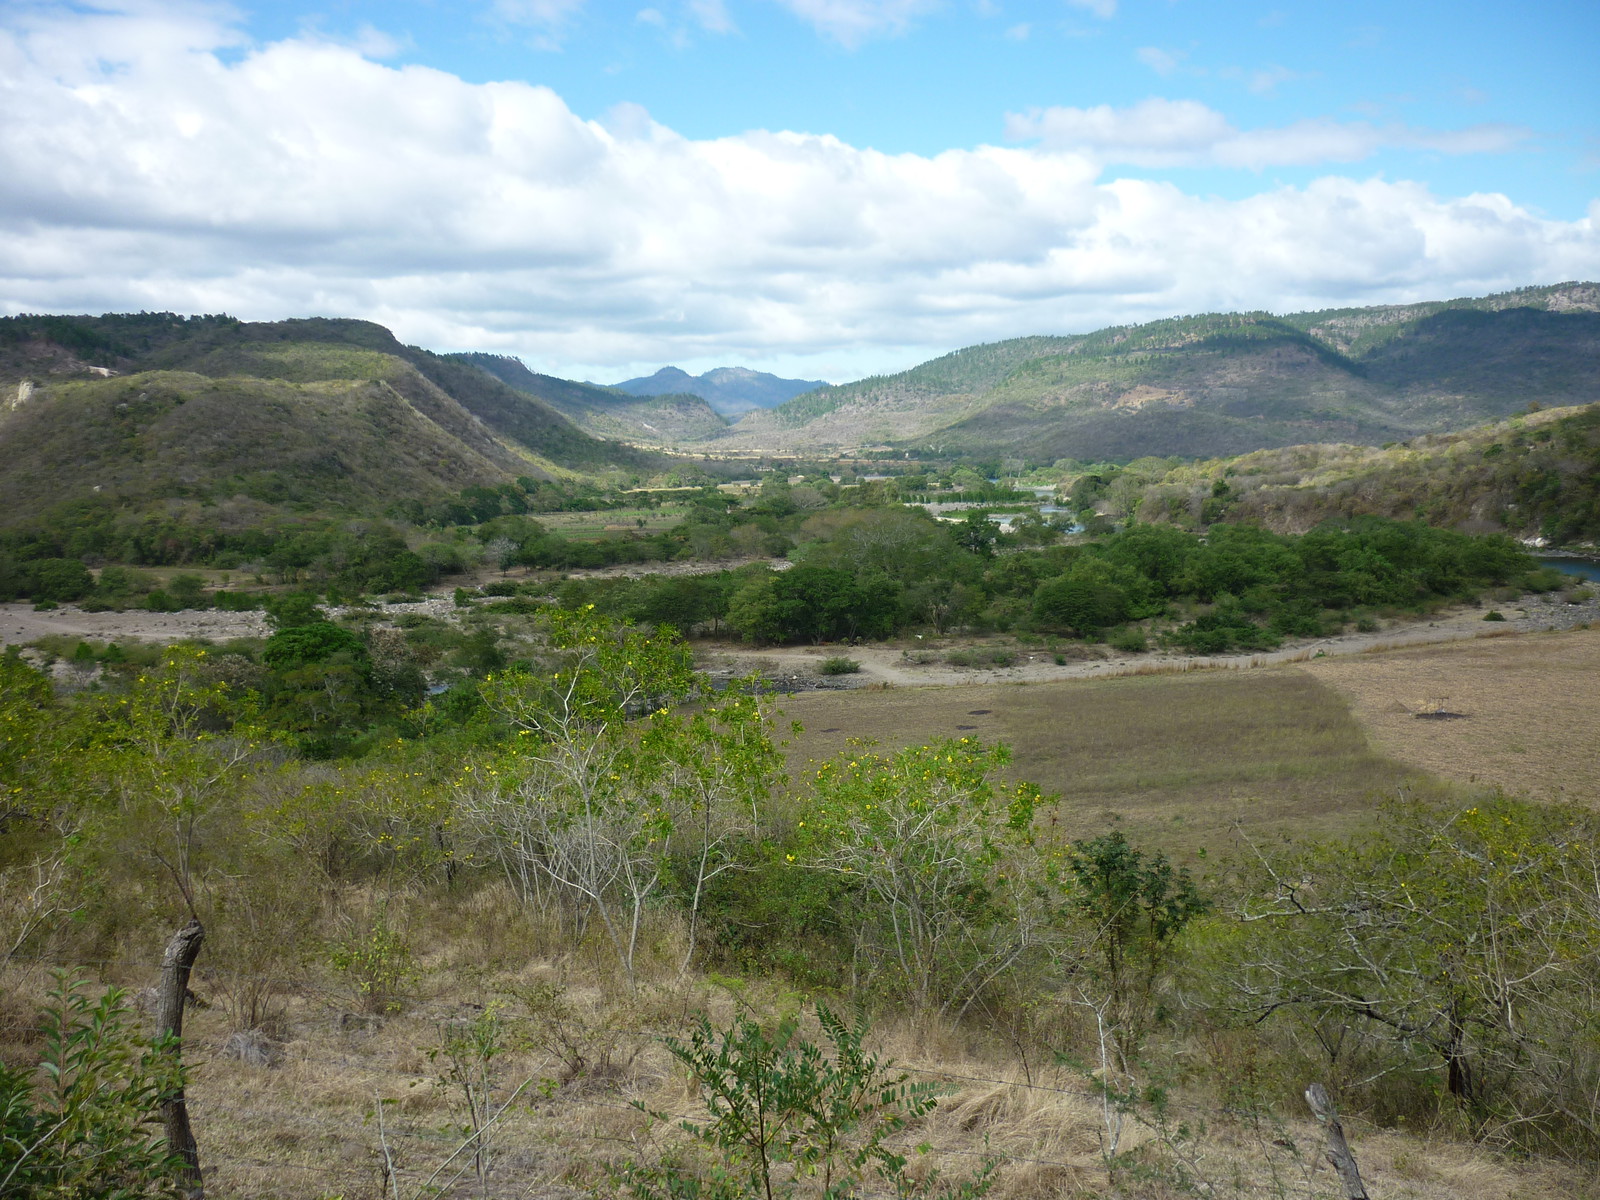
[[[347,898],[354,902],[354,898]],[[675,944],[656,949],[653,982],[626,994],[594,965],[570,957],[526,955],[539,934],[515,915],[499,888],[454,914],[416,910],[421,968],[405,1006],[384,1018],[354,1016],[350,997],[304,984],[275,997],[277,1038],[270,1062],[227,1054],[224,981],[195,978],[202,1005],[186,1024],[192,1064],[190,1112],[206,1194],[250,1200],[421,1200],[422,1197],[616,1195],[610,1171],[650,1160],[674,1138],[635,1101],[672,1118],[693,1117],[683,1075],[656,1034],[682,1035],[698,1011],[726,1026],[738,1010],[771,1019],[794,1011],[795,997],[739,981],[674,976]],[[450,928],[450,917],[458,925]],[[443,920],[442,920],[443,918]],[[670,939],[669,939],[670,941]],[[130,982],[141,973],[125,966]],[[154,974],[142,973],[144,978]],[[8,979],[22,982],[13,974]],[[37,979],[22,984],[24,992]],[[547,997],[557,997],[555,1006]],[[531,1000],[531,1003],[530,1003]],[[451,1162],[467,1120],[462,1093],[440,1053],[453,1032],[496,1005],[499,1053],[491,1064],[496,1107],[530,1083],[496,1123],[490,1173],[480,1186],[470,1155]],[[816,1022],[805,1029],[816,1037]],[[1150,1179],[1134,1190],[1107,1186],[1101,1147],[1104,1115],[1083,1072],[1018,1061],[973,1024],[938,1019],[885,1021],[870,1037],[917,1080],[939,1082],[938,1109],[902,1134],[931,1149],[923,1166],[949,1176],[971,1171],[982,1155],[1002,1166],[994,1200],[1141,1197],[1234,1200],[1299,1197],[1333,1200],[1338,1179],[1320,1162],[1320,1138],[1306,1114],[1253,1120],[1230,1112],[1203,1083],[1173,1101],[1173,1118],[1203,1128],[1200,1174],[1211,1184],[1174,1189]],[[379,1123],[379,1110],[382,1122]],[[1557,1163],[1518,1163],[1451,1141],[1347,1122],[1371,1195],[1384,1200],[1576,1200],[1597,1197],[1592,1179]],[[1122,1149],[1163,1147],[1152,1128],[1126,1122]]]

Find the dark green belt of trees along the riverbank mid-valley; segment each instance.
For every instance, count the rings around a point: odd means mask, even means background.
[[[1266,650],[1379,610],[1421,611],[1490,587],[1557,587],[1509,538],[1360,518],[1302,536],[1136,525],[1085,546],[995,552],[968,525],[907,509],[829,514],[787,571],[568,581],[560,603],[752,642],[882,638],[907,629],[1030,630],[1144,648],[1152,626],[1195,653]],[[974,533],[982,533],[976,530]],[[1154,630],[1152,630],[1154,632]]]

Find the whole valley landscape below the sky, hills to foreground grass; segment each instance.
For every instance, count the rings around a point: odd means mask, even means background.
[[[939,1083],[901,1195],[1322,1195],[1307,1080],[1374,1194],[1592,1195],[1594,318],[1174,318],[742,414],[0,322],[5,1078],[54,968],[146,987],[195,918],[216,1195],[651,1200],[723,1162],[674,1046],[790,1018]]]

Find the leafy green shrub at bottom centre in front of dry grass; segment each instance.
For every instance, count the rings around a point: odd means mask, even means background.
[[[702,1016],[688,1042],[667,1038],[709,1114],[678,1125],[715,1163],[701,1170],[675,1160],[630,1165],[622,1173],[627,1194],[637,1200],[835,1200],[875,1184],[907,1200],[984,1195],[995,1160],[960,1179],[946,1181],[936,1171],[918,1178],[907,1170],[909,1157],[890,1144],[934,1109],[941,1086],[912,1083],[893,1062],[869,1054],[861,1045],[866,1030],[830,1010],[819,1008],[818,1019],[827,1051],[798,1037],[794,1018],[768,1034],[749,1018],[715,1030]]]

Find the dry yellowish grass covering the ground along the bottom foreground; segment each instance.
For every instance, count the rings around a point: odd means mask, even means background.
[[[552,963],[530,971],[558,974]],[[509,982],[523,979],[517,973]],[[493,989],[499,979],[483,981]],[[630,1030],[682,1030],[691,1008],[709,1008],[714,1022],[733,1016],[731,997],[704,982],[662,981],[638,997],[605,998],[603,989],[573,981],[568,997],[590,1030],[624,1034],[637,1054],[614,1069],[563,1078],[560,1061],[539,1048],[534,1018],[507,1010],[512,1048],[499,1059],[506,1085],[523,1078],[550,1083],[533,1088],[493,1142],[494,1171],[486,1195],[581,1197],[611,1194],[608,1171],[629,1158],[648,1160],[677,1133],[651,1126],[632,1107],[642,1101],[670,1118],[698,1115],[683,1077],[659,1043]],[[453,1131],[461,1106],[440,1085],[440,1064],[427,1054],[438,1045],[440,1027],[472,1014],[475,995],[451,974],[434,976],[432,995],[419,995],[411,1011],[373,1029],[341,1029],[338,1013],[306,1000],[296,1011],[293,1040],[282,1066],[256,1067],[221,1058],[224,1038],[216,1010],[189,1019],[187,1054],[194,1062],[190,1106],[206,1168],[206,1189],[216,1197],[250,1200],[386,1200],[384,1157],[397,1168],[398,1194],[419,1194],[424,1181],[459,1144]],[[747,1011],[771,1019],[787,1006],[774,994],[742,995]],[[806,1022],[816,1032],[814,1022]],[[870,1045],[894,1058],[914,1077],[942,1082],[949,1091],[938,1109],[904,1133],[906,1147],[926,1144],[931,1154],[912,1155],[914,1170],[936,1166],[960,1176],[984,1155],[1002,1160],[992,1195],[997,1200],[1112,1195],[1101,1149],[1106,1125],[1090,1080],[1067,1067],[1037,1066],[1024,1075],[1019,1064],[984,1045],[970,1029],[938,1022],[890,1022]],[[384,1128],[374,1118],[384,1101]],[[1334,1197],[1336,1181],[1318,1160],[1317,1131],[1309,1122],[1256,1123],[1218,1110],[1202,1094],[1179,1091],[1173,1122],[1202,1130],[1198,1144],[1205,1176],[1222,1197]],[[1354,1149],[1373,1195],[1411,1200],[1558,1200],[1595,1197],[1592,1181],[1555,1165],[1501,1162],[1456,1142],[1376,1131],[1349,1123]],[[1282,1144],[1291,1141],[1299,1150]],[[1122,1149],[1160,1168],[1170,1147],[1160,1131],[1128,1120]],[[1274,1178],[1288,1179],[1288,1192]],[[448,1173],[445,1176],[448,1179]],[[443,1179],[442,1179],[443,1182]],[[1128,1184],[1120,1195],[1179,1197],[1155,1179]],[[438,1192],[478,1195],[477,1184],[459,1179]]]

